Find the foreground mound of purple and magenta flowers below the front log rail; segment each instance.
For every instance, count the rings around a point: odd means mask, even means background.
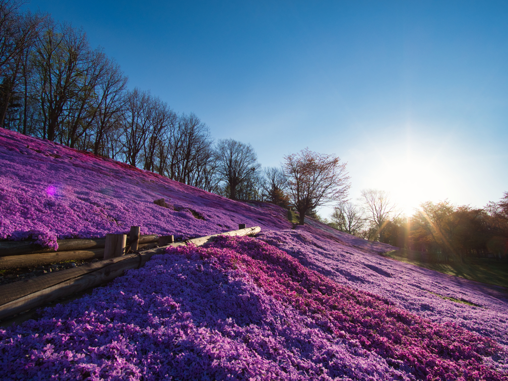
[[[265,242],[224,237],[168,249],[92,295],[0,330],[0,378],[501,380],[489,358],[499,350]]]

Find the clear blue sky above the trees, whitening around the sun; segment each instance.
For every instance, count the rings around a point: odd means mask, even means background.
[[[350,197],[410,212],[508,191],[508,2],[32,0],[83,27],[131,88],[194,112],[263,166],[308,147]],[[327,216],[330,209],[323,209]]]

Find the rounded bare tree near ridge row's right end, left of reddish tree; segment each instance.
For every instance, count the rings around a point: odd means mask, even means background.
[[[261,167],[258,155],[250,144],[233,139],[221,139],[215,149],[217,173],[226,183],[225,189],[230,199],[237,199],[237,189],[247,182],[253,172]]]

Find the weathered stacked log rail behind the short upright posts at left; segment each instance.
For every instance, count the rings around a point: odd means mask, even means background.
[[[154,234],[139,236],[138,250],[151,243],[157,243]],[[58,240],[58,250],[40,249],[34,251],[34,244],[26,242],[0,242],[0,270],[22,267],[36,267],[62,261],[87,261],[103,259],[106,238]]]

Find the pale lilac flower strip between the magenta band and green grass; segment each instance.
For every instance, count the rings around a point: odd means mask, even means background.
[[[347,287],[382,296],[434,322],[453,323],[508,345],[506,289],[375,255],[373,248],[359,246],[355,237],[332,233],[334,236],[327,236],[321,229],[303,226],[261,232],[258,238]]]

